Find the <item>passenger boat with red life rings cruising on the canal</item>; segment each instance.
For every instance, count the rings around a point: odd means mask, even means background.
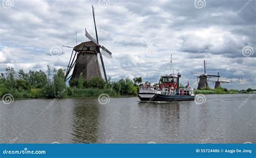
[[[171,57],[172,63],[172,57]],[[172,69],[171,69],[172,70]],[[139,88],[138,97],[141,101],[192,101],[195,98],[194,89],[189,86],[180,87],[179,80],[181,74],[174,72],[161,75],[158,84],[142,84]]]

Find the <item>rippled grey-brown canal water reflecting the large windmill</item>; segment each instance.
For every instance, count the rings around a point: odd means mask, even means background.
[[[0,143],[256,143],[254,94],[104,99],[0,101]]]

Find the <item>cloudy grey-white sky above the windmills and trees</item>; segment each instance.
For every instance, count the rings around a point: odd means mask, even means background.
[[[46,70],[66,68],[71,49],[95,37],[91,5],[95,6],[99,43],[112,52],[104,58],[112,80],[143,77],[156,82],[181,73],[197,87],[191,73],[220,72],[223,87],[255,87],[256,1],[17,1],[0,6],[0,72],[5,67]],[[55,50],[52,53],[51,50]],[[213,79],[214,80],[214,79]],[[210,83],[210,86],[213,84]]]

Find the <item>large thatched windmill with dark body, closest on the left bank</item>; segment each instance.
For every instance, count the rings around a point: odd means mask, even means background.
[[[102,56],[112,59],[112,53],[104,46],[99,45],[98,33],[95,22],[95,11],[93,6],[92,15],[95,25],[96,40],[85,29],[85,36],[91,41],[83,42],[73,47],[73,51],[69,60],[69,65],[66,70],[65,81],[70,78],[78,79],[80,75],[82,75],[83,79],[85,80],[89,80],[93,77],[100,77],[107,81],[106,70]],[[69,76],[72,68],[73,73]]]

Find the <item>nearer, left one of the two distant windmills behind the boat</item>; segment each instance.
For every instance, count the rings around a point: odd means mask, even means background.
[[[198,83],[198,90],[202,90],[204,88],[208,88],[208,80],[211,77],[220,77],[219,75],[211,75],[211,74],[206,74],[206,70],[205,70],[205,60],[204,60],[204,74],[194,74],[193,75],[197,75],[197,83]],[[199,80],[199,81],[198,81]]]

